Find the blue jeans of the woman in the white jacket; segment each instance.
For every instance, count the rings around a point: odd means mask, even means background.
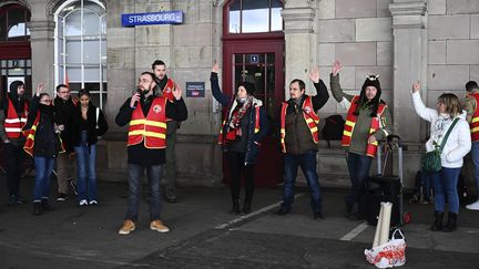
[[[457,182],[461,168],[442,167],[440,172],[431,173],[432,188],[435,190],[435,209],[444,213],[446,209],[446,196],[449,204],[449,211],[459,213],[459,196]]]

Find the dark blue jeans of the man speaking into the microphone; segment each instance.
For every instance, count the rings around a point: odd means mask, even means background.
[[[130,174],[129,180],[129,203],[125,219],[131,219],[133,221],[137,220],[139,206],[141,200],[141,189],[143,183],[143,174],[146,169],[146,175],[150,185],[150,219],[160,219],[160,214],[162,211],[161,204],[161,192],[160,192],[160,180],[161,180],[161,165],[152,166],[141,166],[136,164],[128,164],[128,169]]]

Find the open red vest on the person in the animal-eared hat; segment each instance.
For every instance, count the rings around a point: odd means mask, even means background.
[[[346,123],[345,123],[345,128],[343,131],[342,146],[349,146],[350,145],[350,141],[351,141],[351,136],[353,136],[353,132],[354,132],[354,127],[356,125],[356,118],[357,118],[357,116],[354,115],[354,112],[356,111],[356,107],[357,107],[356,102],[358,100],[359,100],[358,95],[354,96],[351,100],[351,104],[350,104],[350,107],[348,110],[348,114],[347,114],[347,118],[346,118]],[[383,115],[385,110],[386,110],[386,105],[380,103],[379,107],[377,110],[378,116],[371,118],[371,123],[370,123],[370,127],[369,127],[369,134],[373,134],[377,130],[380,128],[379,116]],[[368,143],[366,146],[366,155],[369,157],[375,157],[376,152],[377,152],[377,146],[378,146],[377,142]]]

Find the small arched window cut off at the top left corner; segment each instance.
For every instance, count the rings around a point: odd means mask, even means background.
[[[30,11],[21,4],[8,4],[0,11],[0,42],[28,41],[30,30],[27,22],[30,21]]]

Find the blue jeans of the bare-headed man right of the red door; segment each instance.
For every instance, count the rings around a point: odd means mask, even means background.
[[[283,192],[284,211],[291,211],[294,201],[294,187],[297,176],[297,169],[300,166],[303,174],[306,176],[310,189],[310,206],[314,213],[322,213],[322,196],[319,192],[319,182],[316,173],[316,152],[309,151],[305,154],[295,155],[286,153],[284,155],[285,184]]]

